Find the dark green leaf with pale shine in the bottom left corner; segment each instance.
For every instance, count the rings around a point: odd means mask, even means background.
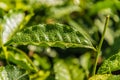
[[[7,65],[0,67],[0,80],[29,80],[29,77],[24,70]]]

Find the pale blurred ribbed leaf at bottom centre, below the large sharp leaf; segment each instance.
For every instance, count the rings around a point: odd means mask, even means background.
[[[54,72],[56,80],[72,80],[69,69],[62,60],[59,60],[54,64]]]

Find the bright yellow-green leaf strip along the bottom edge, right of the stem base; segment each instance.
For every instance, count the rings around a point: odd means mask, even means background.
[[[120,80],[120,75],[104,74],[104,75],[95,75],[89,80]]]

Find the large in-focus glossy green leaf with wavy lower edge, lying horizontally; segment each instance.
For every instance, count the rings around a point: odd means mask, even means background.
[[[50,47],[94,49],[91,41],[74,27],[63,24],[39,24],[19,31],[6,44],[34,44]]]

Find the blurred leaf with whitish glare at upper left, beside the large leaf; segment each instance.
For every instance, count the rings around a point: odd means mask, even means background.
[[[8,39],[14,34],[16,29],[20,26],[24,20],[24,13],[22,11],[10,10],[6,14],[1,22],[2,29],[2,43],[6,43]]]

